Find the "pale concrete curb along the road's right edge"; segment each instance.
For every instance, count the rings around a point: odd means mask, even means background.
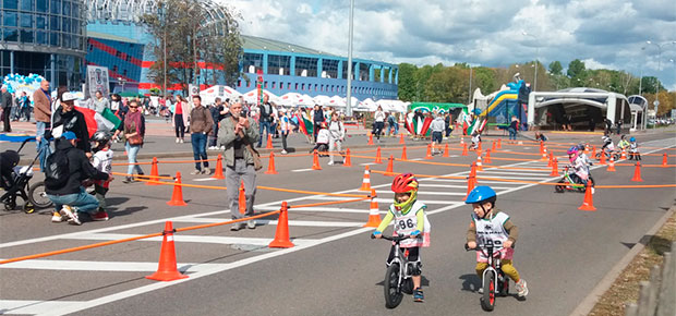
[[[599,299],[613,285],[617,277],[633,260],[633,258],[645,248],[650,239],[666,223],[666,221],[676,211],[676,206],[672,205],[669,210],[660,218],[660,220],[639,240],[639,242],[627,253],[606,275],[599,281],[596,287],[587,295],[587,297],[576,307],[570,316],[586,316],[594,308]]]

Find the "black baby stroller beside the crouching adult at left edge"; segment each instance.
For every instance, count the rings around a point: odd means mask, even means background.
[[[28,166],[16,166],[19,163],[19,153],[26,145],[27,142],[35,139],[35,137],[26,138],[17,151],[5,150],[0,154],[0,186],[4,190],[4,194],[0,196],[0,203],[4,205],[5,210],[13,210],[16,208],[16,197],[21,196],[24,200],[22,209],[25,212],[33,212],[36,208],[46,208],[51,206],[51,200],[45,193],[45,182],[36,182],[29,185],[28,182],[33,179],[33,165],[39,157],[38,155],[31,161]]]

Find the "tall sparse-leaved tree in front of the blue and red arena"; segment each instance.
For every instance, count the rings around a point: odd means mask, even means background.
[[[232,85],[240,76],[238,16],[225,5],[212,3],[207,9],[191,0],[160,0],[158,13],[145,14],[142,21],[155,38],[149,45],[157,62],[148,76],[156,84],[180,83],[186,93],[189,83],[215,84],[222,78]],[[201,73],[201,63],[212,70]]]

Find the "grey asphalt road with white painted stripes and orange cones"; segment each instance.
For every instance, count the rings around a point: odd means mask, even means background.
[[[162,122],[158,122],[162,123]],[[348,146],[353,155],[375,156],[363,131],[352,132]],[[499,134],[499,133],[498,133]],[[600,145],[596,134],[547,134],[551,142],[589,141]],[[304,136],[293,142],[302,154],[309,148]],[[668,153],[676,146],[673,130],[640,134],[643,153]],[[176,144],[171,134],[153,135],[143,151],[189,153],[190,144]],[[186,137],[188,138],[188,137]],[[155,141],[157,139],[157,141]],[[493,136],[484,137],[484,149]],[[400,157],[399,138],[385,138],[386,157]],[[467,141],[467,139],[466,139]],[[275,139],[277,145],[278,139]],[[446,141],[450,157],[425,156],[423,142],[407,139],[408,158],[395,161],[395,172],[433,175],[468,174],[475,155],[460,156],[459,137]],[[7,148],[14,144],[0,144]],[[116,144],[119,146],[119,144]],[[600,147],[600,146],[599,146]],[[650,147],[650,148],[648,148]],[[116,148],[116,147],[113,147]],[[155,149],[157,148],[157,149]],[[171,149],[170,149],[171,148]],[[565,146],[552,149],[562,155]],[[3,149],[2,149],[3,150]],[[156,151],[157,150],[157,151]],[[174,151],[176,150],[176,151]],[[117,149],[120,154],[121,150]],[[363,153],[358,153],[363,151]],[[516,154],[519,153],[519,154]],[[510,145],[503,138],[498,160],[485,166],[480,177],[506,180],[552,182],[546,161],[540,161],[536,146]],[[526,155],[524,155],[526,154]],[[528,155],[531,154],[531,155]],[[123,156],[123,155],[119,155]],[[172,155],[160,156],[167,160]],[[258,172],[258,185],[326,193],[364,194],[364,163],[373,158],[352,157],[352,168],[340,163],[311,170],[310,156],[277,156],[279,174]],[[422,162],[460,163],[462,166]],[[661,156],[644,156],[644,165],[661,163]],[[671,165],[676,158],[669,157]],[[267,166],[267,161],[264,161]],[[384,171],[386,165],[369,165]],[[625,162],[623,162],[625,163]],[[491,169],[510,166],[515,169]],[[560,163],[559,163],[560,166]],[[144,166],[146,173],[149,166]],[[212,166],[213,168],[213,166]],[[597,185],[636,184],[629,181],[633,167],[605,167],[592,171]],[[191,163],[165,163],[159,173],[183,174],[183,183],[225,186],[222,180],[190,175]],[[113,171],[124,172],[124,166]],[[642,184],[673,184],[674,168],[643,168]],[[35,180],[39,180],[36,174]],[[26,215],[0,211],[0,258],[56,251],[141,234],[155,233],[171,220],[174,228],[220,222],[230,218],[222,190],[183,187],[184,207],[167,206],[172,187],[149,186],[142,182],[121,183],[118,177],[108,193],[110,220],[86,221],[83,226],[49,222],[49,210]],[[381,216],[391,203],[390,177],[373,172],[372,185],[378,197]],[[583,194],[554,193],[553,186],[488,181],[498,192],[497,206],[520,228],[515,266],[528,281],[524,301],[498,297],[495,315],[569,315],[603,279],[607,271],[674,205],[675,191],[667,189],[597,189],[596,211],[581,211]],[[470,221],[470,208],[462,203],[467,181],[421,178],[419,198],[428,206],[432,246],[422,251],[425,303],[410,295],[396,309],[385,307],[383,277],[389,244],[369,239],[372,229],[362,228],[369,216],[369,202],[293,208],[301,204],[343,200],[350,197],[258,190],[257,214],[279,209],[282,200],[291,205],[289,226],[292,248],[270,250],[277,217],[259,220],[254,230],[231,232],[230,226],[177,233],[179,269],[190,278],[157,282],[144,277],[157,268],[160,239],[142,240],[83,252],[0,265],[0,313],[39,315],[483,315],[479,304],[479,278],[474,276],[474,254],[462,248]],[[514,289],[514,283],[512,283]]]

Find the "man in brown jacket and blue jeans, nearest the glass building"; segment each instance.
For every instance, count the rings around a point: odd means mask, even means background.
[[[45,160],[51,154],[45,132],[51,130],[51,95],[49,82],[44,80],[33,93],[33,116],[35,117],[35,142],[40,160],[40,171],[45,171]]]

